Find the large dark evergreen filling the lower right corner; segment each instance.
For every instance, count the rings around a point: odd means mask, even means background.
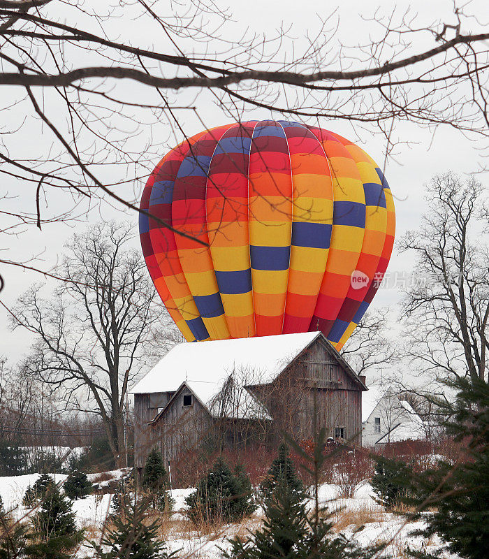
[[[449,551],[479,559],[489,549],[489,385],[472,378],[450,386],[458,395],[453,405],[444,405],[446,430],[465,441],[465,455],[413,476],[404,500],[422,514],[425,537],[437,533]]]

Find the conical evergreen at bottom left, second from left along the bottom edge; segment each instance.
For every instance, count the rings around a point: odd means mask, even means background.
[[[77,530],[71,502],[53,485],[46,493],[41,510],[34,516],[34,532],[29,534],[31,543],[27,556],[43,559],[66,559],[78,544],[83,530]]]

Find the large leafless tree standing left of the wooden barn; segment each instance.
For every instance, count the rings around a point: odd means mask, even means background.
[[[29,374],[56,391],[66,409],[101,417],[118,465],[126,393],[161,314],[152,305],[155,292],[143,258],[128,248],[131,236],[128,225],[114,223],[75,235],[61,266],[69,282],[48,300],[34,286],[20,298],[13,319],[14,327],[36,334]]]

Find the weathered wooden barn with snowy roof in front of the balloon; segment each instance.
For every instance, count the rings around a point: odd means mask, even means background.
[[[207,447],[277,444],[281,433],[361,444],[359,377],[321,332],[173,347],[133,387],[135,465],[158,447],[166,460]]]

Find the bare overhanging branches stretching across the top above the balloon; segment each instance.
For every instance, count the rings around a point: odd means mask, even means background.
[[[365,17],[370,41],[351,47],[340,34],[350,22],[334,10],[299,36],[286,27],[238,36],[232,19],[212,1],[168,10],[144,0],[1,0],[0,87],[10,94],[0,104],[9,123],[0,173],[11,188],[0,194],[1,233],[76,220],[101,200],[138,210],[155,161],[186,138],[186,121],[207,126],[210,103],[226,121],[260,108],[358,123],[384,136],[386,157],[400,121],[487,136],[489,34],[467,32],[476,20],[460,8],[433,24],[377,10]],[[26,136],[41,134],[27,153]],[[31,209],[12,197],[17,182],[31,187]],[[34,268],[8,254],[0,262]]]

